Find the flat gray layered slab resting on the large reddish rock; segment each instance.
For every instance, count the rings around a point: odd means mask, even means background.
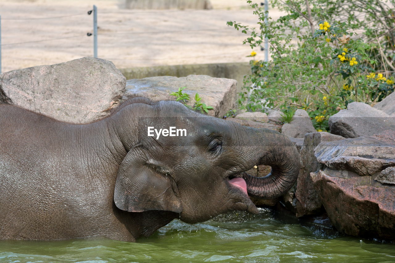
[[[322,142],[314,155],[331,169],[353,171],[361,176],[395,166],[395,145],[369,136]]]

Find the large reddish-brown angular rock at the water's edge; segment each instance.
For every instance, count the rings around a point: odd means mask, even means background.
[[[333,225],[348,235],[394,241],[395,186],[345,172],[325,169],[311,175]]]

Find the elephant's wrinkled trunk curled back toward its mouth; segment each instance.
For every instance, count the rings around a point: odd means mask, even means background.
[[[270,165],[271,172],[265,177],[243,173],[248,195],[272,199],[288,191],[299,173],[299,154],[290,139],[276,131],[247,128],[254,146],[248,147],[256,158],[256,165]],[[254,165],[252,164],[252,165]]]

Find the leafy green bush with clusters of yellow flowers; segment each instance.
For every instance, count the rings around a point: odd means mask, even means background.
[[[393,92],[393,0],[386,2],[392,8],[378,0],[271,2],[286,15],[265,23],[265,11],[248,0],[260,28],[227,23],[250,35],[243,44],[252,49],[263,47],[267,37],[271,51],[269,62],[250,61],[239,107],[306,109],[315,128],[327,131],[329,116],[348,103],[374,105]]]

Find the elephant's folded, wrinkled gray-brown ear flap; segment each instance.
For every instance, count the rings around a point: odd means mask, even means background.
[[[115,205],[129,212],[166,210],[180,213],[177,186],[166,169],[144,153],[131,150],[120,164],[115,182]]]

